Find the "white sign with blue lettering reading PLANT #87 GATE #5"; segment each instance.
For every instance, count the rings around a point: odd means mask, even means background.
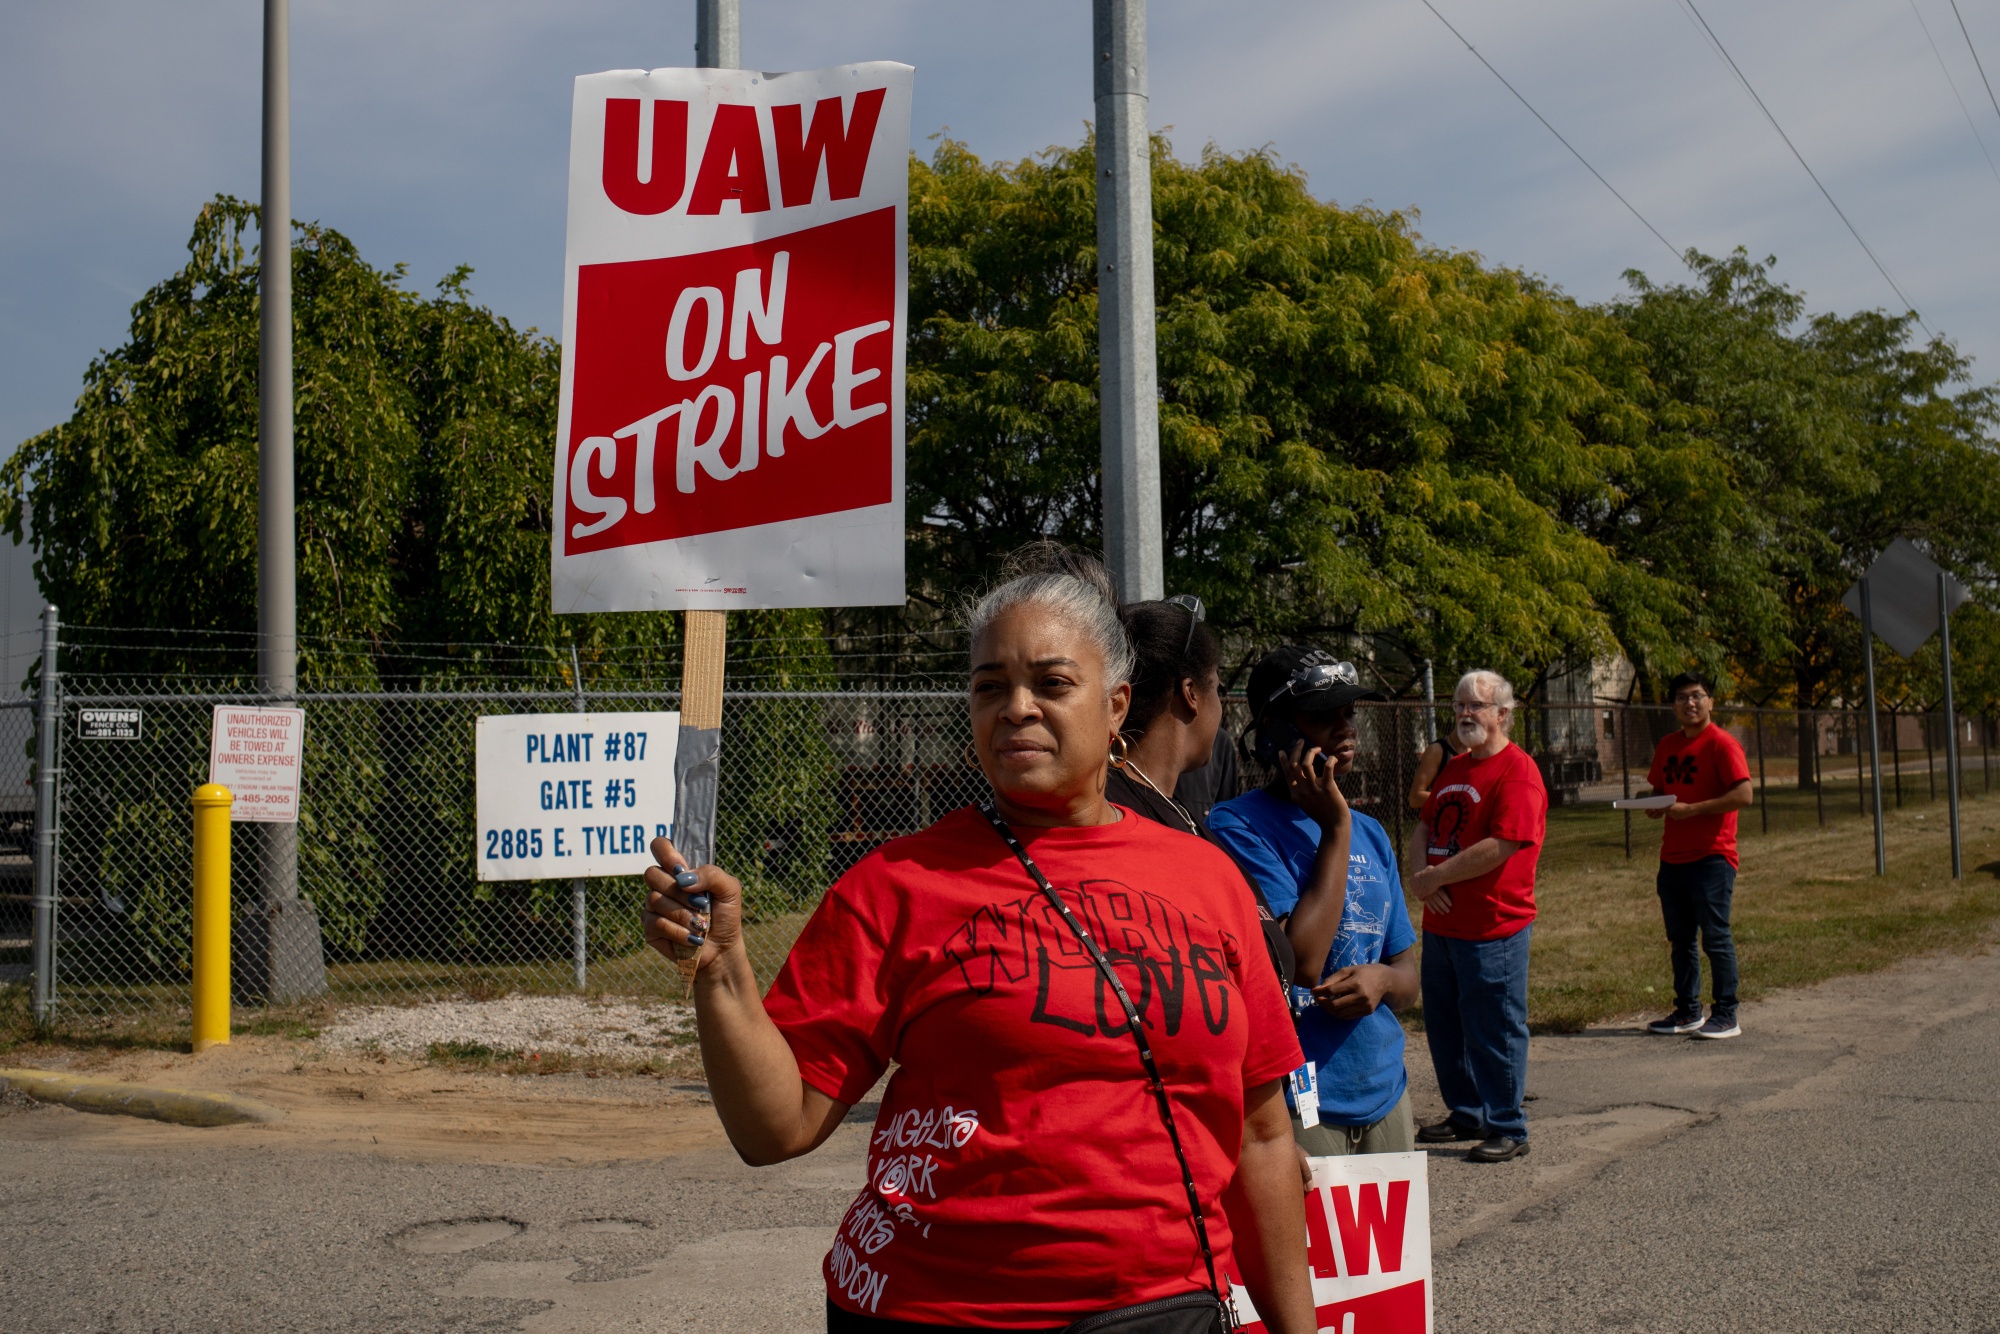
[[[478,720],[480,880],[636,876],[674,816],[680,714]]]

